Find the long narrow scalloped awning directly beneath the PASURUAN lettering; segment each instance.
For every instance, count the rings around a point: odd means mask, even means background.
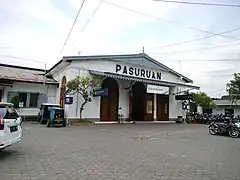
[[[130,76],[120,75],[120,74],[115,74],[115,73],[110,73],[110,72],[100,72],[100,71],[89,70],[89,73],[92,75],[97,75],[97,76],[105,76],[105,77],[111,77],[111,78],[127,80],[127,81],[137,81],[137,82],[143,82],[143,83],[152,84],[152,85],[160,85],[160,86],[168,86],[168,87],[182,86],[182,87],[190,87],[190,88],[194,88],[194,89],[200,89],[200,87],[194,86],[191,84],[182,84],[182,83],[174,83],[174,82],[159,81],[159,80],[152,80],[152,79],[143,79],[143,78],[130,77]]]

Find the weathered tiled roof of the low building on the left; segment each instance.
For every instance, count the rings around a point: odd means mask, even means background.
[[[44,83],[43,69],[0,64],[0,79],[10,81],[22,81],[30,83]],[[46,84],[58,84],[51,78],[46,78]]]

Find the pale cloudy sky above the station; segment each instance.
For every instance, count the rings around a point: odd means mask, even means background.
[[[201,2],[240,4],[240,0]],[[46,64],[50,68],[62,56],[135,54],[144,47],[149,56],[191,78],[211,97],[227,94],[226,83],[240,71],[240,8],[153,0],[86,0],[60,53],[81,3],[0,0],[0,63],[35,68]],[[209,37],[231,30],[224,37]]]

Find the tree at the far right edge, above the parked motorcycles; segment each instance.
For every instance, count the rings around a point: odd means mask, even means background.
[[[232,103],[240,100],[240,73],[234,73],[234,79],[227,84],[227,91]]]

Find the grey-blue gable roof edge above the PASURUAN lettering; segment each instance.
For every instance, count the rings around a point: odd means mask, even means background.
[[[63,62],[72,62],[72,61],[80,61],[80,60],[103,60],[103,59],[110,59],[110,60],[117,60],[117,61],[129,61],[131,60],[132,64],[139,65],[140,61],[145,67],[155,68],[155,69],[164,69],[178,77],[181,77],[187,83],[193,83],[193,81],[186,76],[174,71],[173,69],[167,67],[166,65],[158,62],[157,60],[151,58],[145,53],[140,54],[124,54],[124,55],[94,55],[94,56],[64,56],[62,60],[60,60],[57,64],[55,64],[51,69],[48,70],[47,74],[58,67]]]

